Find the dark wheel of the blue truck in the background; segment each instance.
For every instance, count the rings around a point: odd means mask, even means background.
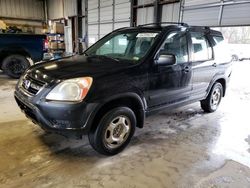
[[[19,78],[29,68],[28,59],[22,55],[10,55],[3,60],[2,70],[12,78]]]

